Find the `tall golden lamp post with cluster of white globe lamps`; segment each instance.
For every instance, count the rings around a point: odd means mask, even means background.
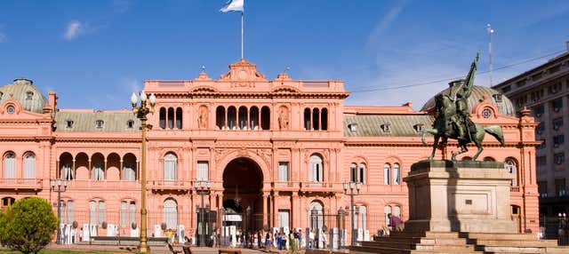
[[[140,99],[140,106],[138,106],[138,100]],[[142,147],[140,151],[140,157],[142,163],[140,163],[140,253],[149,253],[150,248],[148,247],[147,238],[147,228],[146,228],[146,217],[148,210],[146,210],[146,130],[147,128],[152,128],[151,125],[147,125],[146,121],[148,118],[146,115],[148,113],[154,113],[154,104],[156,103],[156,96],[154,93],[150,95],[148,99],[146,92],[140,91],[140,98],[132,92],[131,96],[132,103],[132,113],[140,119],[140,129],[142,131]],[[148,104],[150,107],[148,107]]]

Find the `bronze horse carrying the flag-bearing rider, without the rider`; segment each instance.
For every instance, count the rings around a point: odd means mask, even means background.
[[[459,140],[459,147],[461,147],[461,151],[453,153],[453,156],[451,157],[453,161],[456,160],[456,155],[461,155],[469,151],[467,145],[471,142],[474,142],[478,148],[476,155],[472,157],[472,161],[476,161],[478,155],[480,155],[483,150],[482,140],[484,140],[485,133],[488,133],[494,138],[498,139],[501,146],[504,146],[504,137],[500,125],[482,126],[478,123],[474,123],[476,132],[473,131],[474,133],[472,134],[466,133],[466,135],[464,135],[465,137],[459,137],[458,131],[453,126],[453,123],[451,123],[452,117],[456,117],[457,115],[457,108],[454,100],[446,94],[439,93],[437,96],[435,96],[435,112],[437,118],[435,119],[435,123],[433,123],[433,128],[425,128],[421,137],[423,144],[427,145],[427,142],[425,142],[425,135],[429,133],[435,136],[435,142],[433,143],[433,152],[429,156],[429,160],[432,160],[435,156],[438,141],[441,138],[442,144],[445,144],[447,139]]]

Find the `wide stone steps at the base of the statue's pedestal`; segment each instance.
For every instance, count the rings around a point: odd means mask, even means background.
[[[535,234],[395,232],[373,242],[361,242],[349,253],[569,253],[555,240],[537,240]]]

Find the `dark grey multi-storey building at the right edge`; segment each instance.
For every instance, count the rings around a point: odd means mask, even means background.
[[[541,140],[535,158],[540,192],[540,212],[553,216],[569,213],[567,181],[569,169],[569,43],[567,52],[493,88],[514,102],[517,110],[527,107],[539,125],[535,137]],[[565,125],[564,125],[565,123]]]

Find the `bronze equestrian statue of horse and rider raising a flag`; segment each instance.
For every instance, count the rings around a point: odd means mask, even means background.
[[[456,160],[456,155],[461,155],[469,151],[467,145],[471,142],[477,146],[477,154],[472,156],[472,161],[476,161],[478,155],[482,153],[482,140],[484,140],[485,133],[492,135],[500,141],[501,146],[504,146],[504,136],[501,131],[500,125],[482,126],[473,123],[470,119],[468,99],[472,93],[474,86],[474,75],[477,71],[478,62],[477,53],[476,58],[470,66],[469,74],[466,79],[453,81],[450,84],[448,94],[441,92],[435,96],[435,122],[433,128],[425,128],[422,134],[422,142],[425,142],[425,135],[427,133],[435,136],[433,143],[433,152],[429,156],[429,160],[433,160],[435,152],[437,151],[438,141],[442,138],[441,144],[446,144],[447,139],[457,139],[458,147],[461,150],[453,153],[451,160]]]

